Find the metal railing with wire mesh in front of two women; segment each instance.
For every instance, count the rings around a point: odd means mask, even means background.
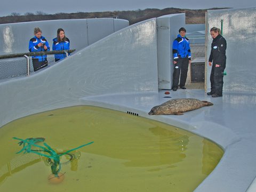
[[[74,51],[75,50],[41,51],[0,55],[0,80],[17,76],[29,76],[30,72],[34,71],[33,65],[31,65],[32,56],[47,55],[47,60],[51,63],[55,62],[54,54],[65,53],[68,57],[68,54]]]

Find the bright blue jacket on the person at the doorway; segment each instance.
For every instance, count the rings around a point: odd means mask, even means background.
[[[186,58],[188,57],[191,60],[191,52],[189,46],[188,38],[181,37],[179,34],[177,38],[173,41],[172,44],[172,53],[174,61],[177,61],[179,58]]]

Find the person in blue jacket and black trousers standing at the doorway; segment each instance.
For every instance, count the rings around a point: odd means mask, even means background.
[[[191,63],[191,52],[189,46],[189,39],[186,37],[186,29],[181,27],[179,29],[178,37],[173,41],[173,84],[172,90],[177,91],[180,79],[180,88],[186,89],[185,83],[188,74],[188,63]]]

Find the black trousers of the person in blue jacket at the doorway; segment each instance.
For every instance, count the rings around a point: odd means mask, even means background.
[[[173,87],[178,87],[180,79],[180,87],[185,86],[188,75],[188,58],[179,58],[174,65],[173,71]]]

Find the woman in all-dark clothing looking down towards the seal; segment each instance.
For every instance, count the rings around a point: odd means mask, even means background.
[[[208,92],[207,95],[212,95],[212,97],[215,98],[222,97],[223,72],[226,68],[227,42],[220,34],[219,28],[211,28],[210,33],[213,38],[212,50],[209,58],[209,66],[212,66],[210,76],[211,92]]]

